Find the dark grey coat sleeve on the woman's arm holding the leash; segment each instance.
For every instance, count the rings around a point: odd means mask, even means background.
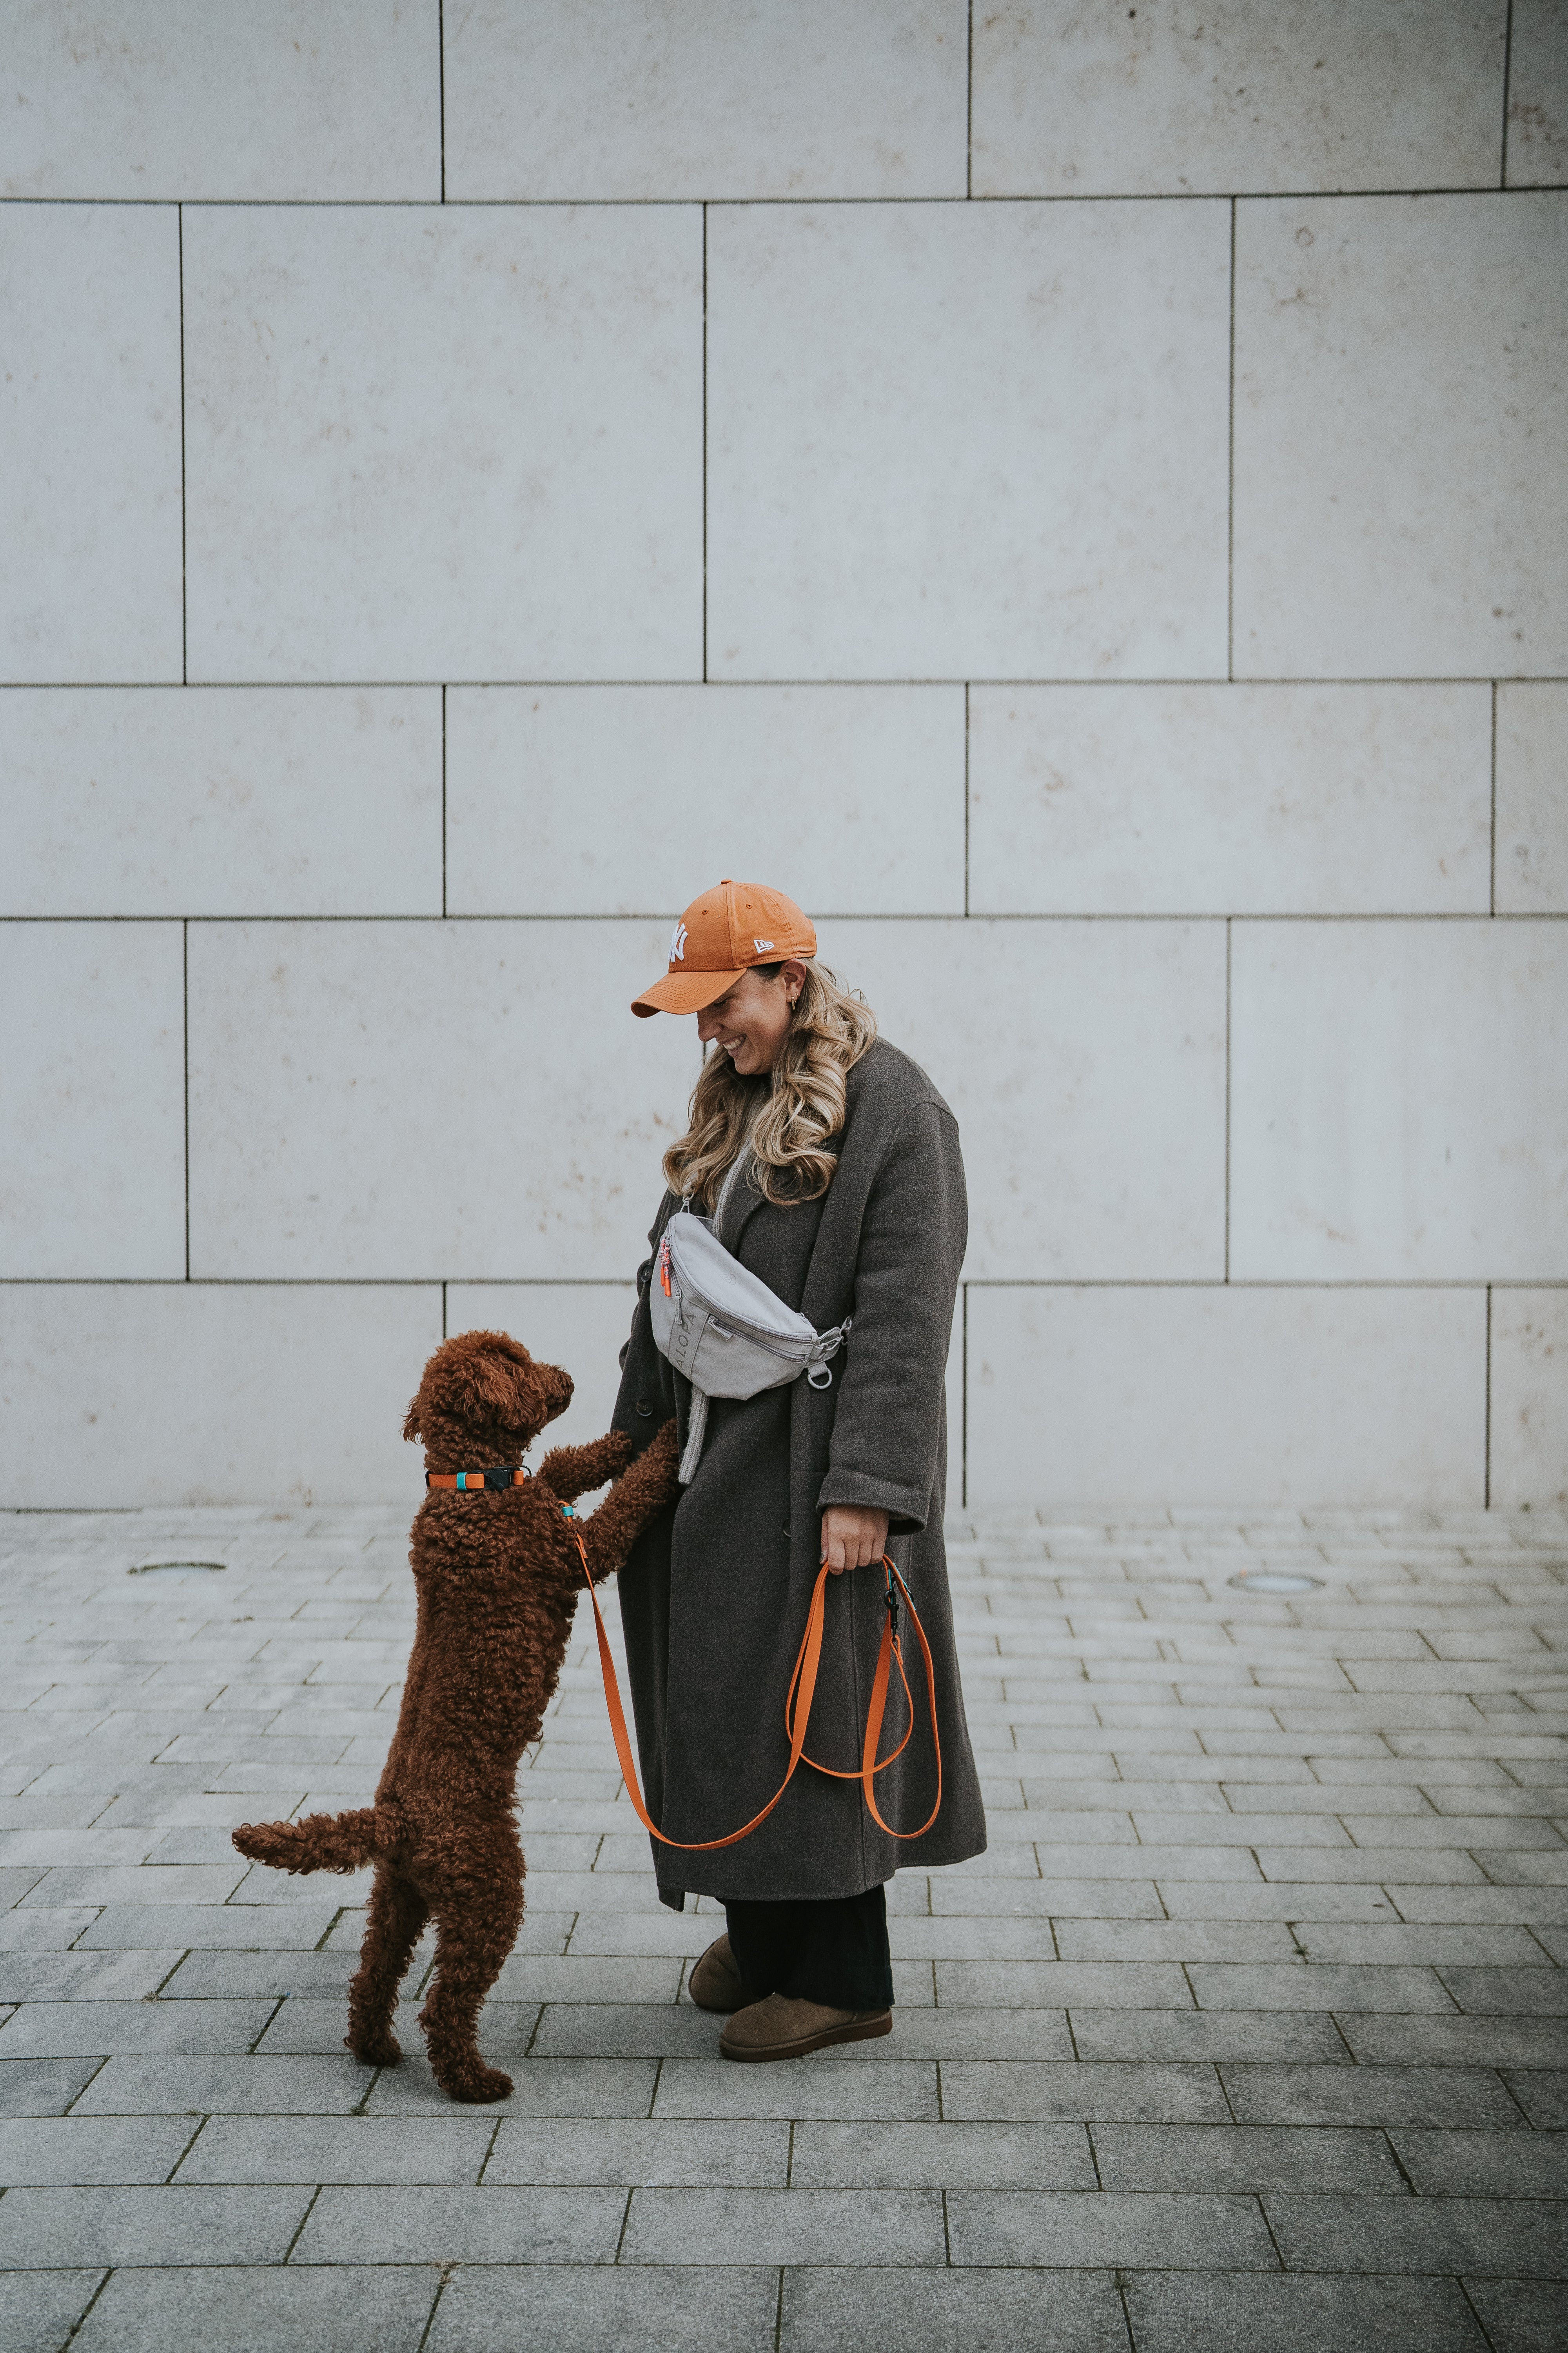
[[[818,1511],[865,1504],[886,1511],[893,1532],[926,1525],[966,1238],[957,1120],[945,1104],[914,1104],[865,1200]]]

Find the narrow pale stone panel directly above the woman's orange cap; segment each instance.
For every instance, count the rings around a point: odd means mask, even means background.
[[[454,915],[675,915],[724,873],[811,915],[961,915],[961,687],[447,696]]]

